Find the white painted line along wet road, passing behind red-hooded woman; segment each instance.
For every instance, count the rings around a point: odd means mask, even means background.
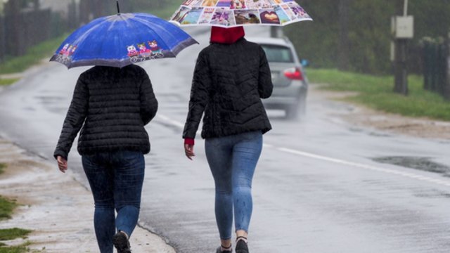
[[[164,120],[165,122],[167,122],[168,124],[172,124],[173,126],[177,126],[181,129],[184,129],[184,124],[182,124],[181,122],[177,122],[174,119],[171,119],[165,115],[158,115],[158,117],[162,120]],[[316,159],[316,160],[322,160],[322,161],[326,161],[326,162],[333,162],[335,164],[342,164],[342,165],[346,165],[346,166],[351,166],[351,167],[356,167],[356,168],[360,168],[360,169],[368,169],[368,170],[372,170],[372,171],[380,171],[383,173],[387,173],[387,174],[394,174],[394,175],[398,175],[398,176],[405,176],[405,177],[409,177],[410,179],[416,179],[416,180],[420,180],[420,181],[428,181],[430,183],[437,183],[439,185],[442,186],[450,186],[450,181],[445,181],[442,179],[433,179],[431,177],[428,176],[423,176],[423,175],[419,175],[419,174],[414,174],[412,172],[404,172],[404,171],[397,171],[394,169],[387,169],[387,168],[383,168],[383,167],[375,167],[372,165],[367,165],[367,164],[360,164],[357,162],[349,162],[346,160],[340,160],[337,158],[333,158],[333,157],[326,157],[323,155],[316,155],[313,153],[307,153],[307,152],[303,152],[300,150],[293,150],[290,148],[279,148],[276,147],[275,145],[271,145],[271,144],[267,144],[264,143],[264,148],[273,148],[275,150],[281,151],[283,153],[290,153],[292,155],[300,155],[302,157],[309,157],[312,159]]]

